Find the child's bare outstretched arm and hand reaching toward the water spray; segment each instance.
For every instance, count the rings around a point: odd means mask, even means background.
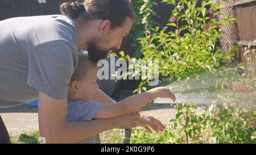
[[[156,87],[144,93],[133,95],[117,103],[102,104],[94,118],[114,118],[141,109],[155,98],[171,98],[174,102],[176,97],[168,87]]]

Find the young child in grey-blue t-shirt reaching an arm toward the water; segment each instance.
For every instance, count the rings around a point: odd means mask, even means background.
[[[97,64],[85,54],[79,55],[79,62],[71,77],[68,89],[68,114],[70,122],[90,121],[92,119],[114,118],[138,111],[155,98],[171,98],[175,95],[168,87],[156,87],[144,93],[133,95],[117,103],[101,104],[93,102],[97,93]]]

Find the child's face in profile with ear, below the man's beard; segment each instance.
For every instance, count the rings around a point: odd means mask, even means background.
[[[72,89],[76,99],[84,100],[85,102],[92,102],[92,98],[98,89],[97,81],[98,68],[89,69],[85,77],[80,81],[72,82]]]

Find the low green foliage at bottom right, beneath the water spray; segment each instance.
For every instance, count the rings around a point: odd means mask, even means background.
[[[162,133],[134,129],[131,143],[256,143],[255,110],[217,107],[197,116],[195,104],[175,106],[176,118]]]

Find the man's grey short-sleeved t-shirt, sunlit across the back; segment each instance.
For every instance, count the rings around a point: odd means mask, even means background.
[[[63,15],[0,21],[0,108],[38,98],[67,99],[78,61],[75,20]]]

